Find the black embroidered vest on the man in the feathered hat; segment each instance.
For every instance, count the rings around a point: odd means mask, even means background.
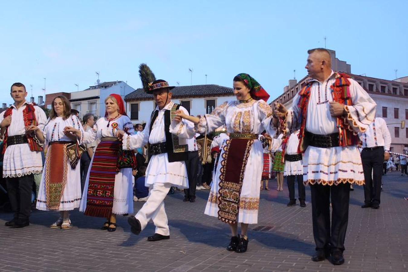
[[[170,133],[170,123],[171,120],[175,116],[175,111],[180,108],[180,104],[174,104],[171,110],[164,111],[164,133],[166,135],[166,148],[167,148],[167,156],[169,158],[169,162],[174,161],[185,161],[188,159],[188,145],[187,144],[179,144],[179,138],[177,135]],[[157,114],[156,114],[157,113]],[[153,123],[157,118],[158,111],[153,111],[150,119],[150,130],[149,130],[149,137],[152,131]],[[150,157],[150,156],[149,156]]]

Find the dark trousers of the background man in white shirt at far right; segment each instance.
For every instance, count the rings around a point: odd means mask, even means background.
[[[364,170],[364,202],[366,204],[380,203],[381,196],[381,165],[384,162],[384,147],[375,149],[363,148],[361,162]],[[371,175],[373,174],[373,175]]]

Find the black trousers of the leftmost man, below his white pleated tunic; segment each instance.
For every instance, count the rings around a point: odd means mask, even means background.
[[[31,211],[31,192],[33,192],[34,175],[7,177],[7,193],[14,219],[25,222],[29,220]]]

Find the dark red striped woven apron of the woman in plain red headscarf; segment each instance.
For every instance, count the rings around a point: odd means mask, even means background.
[[[109,218],[113,207],[115,176],[121,142],[116,137],[103,137],[93,156],[89,172],[85,215]]]

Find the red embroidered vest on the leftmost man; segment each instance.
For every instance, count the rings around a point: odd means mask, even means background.
[[[24,126],[37,126],[38,122],[37,119],[35,118],[35,104],[26,104],[26,108],[23,110],[23,118],[24,118]],[[10,107],[6,110],[4,113],[4,118],[7,116],[11,115],[13,113],[13,108]],[[9,133],[9,128],[6,129],[6,133],[4,135],[4,148],[3,148],[3,154],[6,152],[7,148],[7,135]],[[34,133],[32,134],[27,134],[27,140],[28,144],[30,146],[31,151],[42,151],[42,145],[40,142],[36,139]]]

